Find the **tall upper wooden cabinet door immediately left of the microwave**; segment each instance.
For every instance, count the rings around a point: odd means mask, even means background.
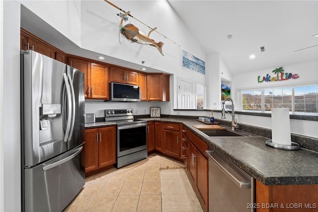
[[[90,63],[90,97],[91,99],[109,99],[108,67],[103,64]]]

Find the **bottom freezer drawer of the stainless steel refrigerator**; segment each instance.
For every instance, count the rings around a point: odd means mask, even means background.
[[[24,211],[61,212],[85,184],[82,146],[48,162],[24,169]]]

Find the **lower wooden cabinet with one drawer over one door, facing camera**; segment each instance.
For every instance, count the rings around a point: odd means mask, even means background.
[[[162,151],[168,155],[180,158],[180,124],[162,123]]]

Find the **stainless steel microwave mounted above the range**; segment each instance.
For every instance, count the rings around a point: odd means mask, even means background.
[[[139,86],[111,82],[109,92],[113,102],[140,102]]]

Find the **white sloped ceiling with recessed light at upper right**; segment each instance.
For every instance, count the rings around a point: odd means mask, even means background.
[[[219,53],[233,74],[318,61],[317,0],[168,2],[204,51]]]

